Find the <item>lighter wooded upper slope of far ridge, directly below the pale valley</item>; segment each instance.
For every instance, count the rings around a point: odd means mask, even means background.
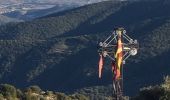
[[[70,11],[64,15],[53,14],[47,16],[48,18],[43,18],[40,20],[34,20],[31,22],[20,23],[17,25],[8,25],[8,27],[4,26],[1,27],[2,30],[17,30],[12,33],[3,33],[1,32],[0,37],[3,38],[24,38],[24,35],[27,38],[38,38],[38,39],[47,39],[52,38],[63,33],[69,32],[70,30],[76,29],[79,25],[84,24],[89,19],[102,14],[103,12],[111,9],[111,13],[116,12],[124,3],[121,2],[105,2],[105,4],[99,3],[95,4],[94,6],[85,6],[80,9],[75,9]],[[103,6],[103,7],[102,7]],[[91,10],[91,11],[90,11]],[[108,16],[106,15],[102,16]],[[53,17],[55,16],[55,17]],[[77,18],[77,19],[76,19]],[[64,27],[63,27],[64,26]],[[57,30],[57,31],[56,31]],[[10,37],[10,35],[12,37]]]

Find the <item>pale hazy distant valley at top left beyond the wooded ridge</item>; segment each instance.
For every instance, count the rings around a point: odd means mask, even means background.
[[[21,20],[32,20],[51,13],[69,10],[106,0],[5,0],[0,1],[0,13]]]

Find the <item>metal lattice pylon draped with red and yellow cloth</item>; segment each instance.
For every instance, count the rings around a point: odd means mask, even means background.
[[[99,43],[99,78],[102,76],[103,59],[107,57],[112,62],[113,96],[116,100],[123,100],[123,65],[130,56],[137,54],[138,48],[138,41],[130,38],[124,28],[116,28]]]

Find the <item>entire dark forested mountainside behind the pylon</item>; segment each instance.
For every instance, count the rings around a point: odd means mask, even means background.
[[[97,77],[97,42],[114,27],[123,26],[140,43],[139,54],[124,70],[125,92],[134,95],[170,74],[169,5],[167,0],[105,1],[1,26],[0,81],[69,92],[101,85],[108,88],[110,67],[105,67],[102,80]]]

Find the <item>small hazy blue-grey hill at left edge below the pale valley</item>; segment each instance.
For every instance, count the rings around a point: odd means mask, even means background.
[[[4,15],[0,15],[0,25],[9,23],[9,22],[21,22],[22,20],[15,19],[15,18],[10,18]]]

